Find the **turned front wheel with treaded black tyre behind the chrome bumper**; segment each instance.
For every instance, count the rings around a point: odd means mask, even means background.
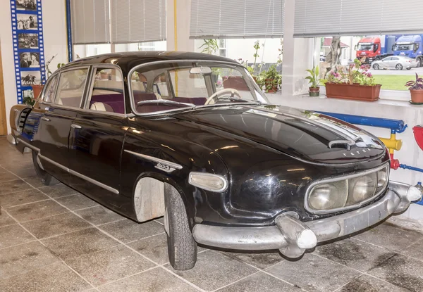
[[[164,184],[164,207],[169,262],[173,269],[192,269],[197,262],[197,243],[180,193],[170,184]]]

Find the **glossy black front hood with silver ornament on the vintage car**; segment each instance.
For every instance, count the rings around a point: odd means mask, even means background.
[[[175,118],[250,139],[308,163],[357,163],[385,152],[379,139],[354,125],[285,106],[216,106]]]

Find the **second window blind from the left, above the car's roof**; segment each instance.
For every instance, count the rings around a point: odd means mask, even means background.
[[[166,0],[110,0],[114,44],[166,39]]]

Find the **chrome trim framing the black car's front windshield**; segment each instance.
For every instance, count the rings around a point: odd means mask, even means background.
[[[172,113],[172,112],[176,112],[178,110],[190,110],[192,108],[186,107],[186,108],[174,108],[172,110],[159,110],[156,112],[152,112],[152,113],[137,113],[137,111],[135,110],[135,99],[134,99],[134,95],[133,95],[133,88],[132,88],[132,82],[130,81],[130,77],[131,75],[133,75],[133,72],[135,72],[135,70],[148,66],[148,65],[155,65],[155,64],[162,64],[162,63],[183,63],[183,62],[191,62],[191,63],[196,63],[196,62],[200,62],[200,63],[223,63],[226,65],[232,65],[234,68],[236,67],[240,67],[240,68],[244,68],[243,65],[237,64],[237,63],[233,63],[233,62],[228,62],[228,61],[215,61],[215,60],[198,60],[198,59],[192,59],[192,60],[165,60],[165,61],[154,61],[154,62],[149,62],[149,63],[143,63],[140,65],[136,65],[133,68],[131,68],[131,70],[129,70],[128,72],[128,76],[127,76],[127,80],[128,80],[128,91],[129,91],[129,98],[130,98],[130,109],[133,111],[133,113],[137,116],[150,116],[150,115],[162,115],[165,113]],[[250,76],[251,77],[251,76]],[[254,87],[257,91],[257,89],[259,89],[257,87],[257,84],[254,82]],[[257,87],[257,88],[256,88]],[[260,92],[262,92],[262,90],[259,90]],[[255,93],[255,91],[252,91]],[[264,98],[264,100],[266,100],[267,102],[269,102],[269,100],[267,99],[266,95],[262,92],[262,97]],[[256,96],[257,99],[257,96]],[[259,102],[259,101],[257,101]],[[221,103],[222,105],[226,105],[226,106],[233,106],[234,103]],[[270,102],[269,102],[270,104]],[[202,108],[203,106],[196,106],[196,108]]]

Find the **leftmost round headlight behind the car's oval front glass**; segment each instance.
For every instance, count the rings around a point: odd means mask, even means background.
[[[348,198],[348,181],[331,182],[315,186],[309,196],[309,206],[314,210],[343,208]]]

